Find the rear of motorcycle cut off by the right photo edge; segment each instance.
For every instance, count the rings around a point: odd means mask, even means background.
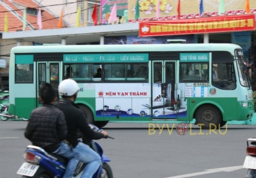
[[[247,174],[245,178],[255,178],[256,177],[256,138],[249,138],[247,140],[247,154],[249,156],[245,157],[245,162],[243,168],[247,168]]]

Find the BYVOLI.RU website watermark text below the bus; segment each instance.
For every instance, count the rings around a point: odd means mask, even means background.
[[[216,124],[210,124],[209,129],[203,129],[204,124],[197,124],[199,130],[193,130],[192,124],[149,124],[149,135],[161,135],[163,133],[168,133],[171,135],[174,132],[178,135],[226,135],[228,132],[228,124],[225,125],[225,129],[220,129]]]

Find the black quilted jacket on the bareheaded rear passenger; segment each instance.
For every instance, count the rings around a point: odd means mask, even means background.
[[[33,145],[53,152],[66,139],[67,133],[63,112],[53,104],[43,104],[31,112],[24,135]]]

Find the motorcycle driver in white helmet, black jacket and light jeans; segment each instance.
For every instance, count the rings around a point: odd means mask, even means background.
[[[80,161],[86,163],[85,170],[81,177],[92,177],[101,165],[101,157],[88,145],[78,142],[77,131],[82,133],[83,140],[106,138],[106,131],[95,132],[88,125],[85,113],[79,109],[75,100],[80,90],[78,84],[72,79],[66,79],[59,84],[59,95],[62,97],[56,107],[63,111],[68,126],[67,141],[72,145],[73,150],[80,154]]]

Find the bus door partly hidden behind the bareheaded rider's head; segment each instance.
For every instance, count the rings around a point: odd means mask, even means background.
[[[43,86],[45,83],[50,83],[53,87],[57,90],[61,73],[60,73],[60,62],[37,62],[37,75],[36,75],[36,91],[37,91],[37,106],[42,104],[39,101],[39,90],[40,87]]]

